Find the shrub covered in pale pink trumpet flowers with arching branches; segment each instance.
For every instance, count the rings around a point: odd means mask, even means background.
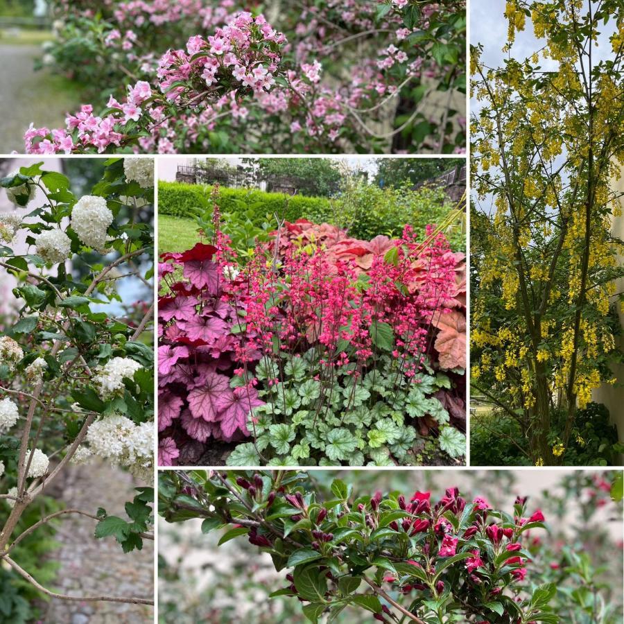
[[[113,71],[119,84],[110,85],[112,95],[101,114],[85,105],[67,117],[66,128],[31,125],[25,135],[29,153],[125,146],[159,153],[423,146],[450,153],[465,146],[465,119],[453,100],[459,94],[461,101],[465,92],[463,2],[349,2],[342,12],[331,2],[304,3],[303,14],[293,7],[280,16],[288,37],[263,15],[229,12],[229,2],[179,8],[167,0],[160,3],[162,12],[146,3],[115,4],[116,10],[104,8],[109,21],[83,9],[80,17],[59,24],[61,41],[47,57],[75,71],[76,51],[88,40],[98,49],[96,58],[104,60],[98,67],[92,49],[85,50],[89,82],[99,71],[110,84],[113,55],[114,64],[123,55],[132,69],[118,71],[119,76]],[[63,2],[60,14],[67,14]],[[309,21],[302,21],[306,17]],[[183,37],[187,19],[192,36],[185,49],[177,49],[180,39],[171,33]],[[164,24],[173,30],[164,34],[172,48],[163,54],[150,30]],[[208,27],[214,34],[196,34]],[[336,41],[327,44],[328,38]],[[357,66],[345,80],[349,45],[356,46]],[[331,80],[324,80],[326,72]],[[129,84],[128,76],[134,78]],[[447,99],[440,119],[423,107],[436,91]],[[388,123],[392,116],[394,123]],[[245,137],[244,148],[236,135]]]

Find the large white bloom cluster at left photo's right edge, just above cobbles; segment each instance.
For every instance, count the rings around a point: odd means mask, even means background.
[[[128,467],[137,478],[151,479],[153,422],[136,425],[125,416],[107,416],[89,427],[87,442],[93,453],[113,465]]]

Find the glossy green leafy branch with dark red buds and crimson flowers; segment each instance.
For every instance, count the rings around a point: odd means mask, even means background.
[[[329,499],[311,478],[288,471],[162,473],[159,513],[202,518],[225,529],[220,544],[246,537],[284,570],[291,596],[316,623],[345,607],[381,622],[557,623],[555,584],[528,584],[528,539],[545,528],[540,510],[517,498],[512,514],[458,488],[440,501],[391,492],[356,494],[336,479]]]

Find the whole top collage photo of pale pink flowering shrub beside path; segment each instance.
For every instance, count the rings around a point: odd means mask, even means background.
[[[465,1],[34,5],[0,3],[6,152],[465,153]]]

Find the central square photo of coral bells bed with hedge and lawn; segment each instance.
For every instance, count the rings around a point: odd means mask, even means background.
[[[463,465],[465,160],[159,160],[159,465]]]

